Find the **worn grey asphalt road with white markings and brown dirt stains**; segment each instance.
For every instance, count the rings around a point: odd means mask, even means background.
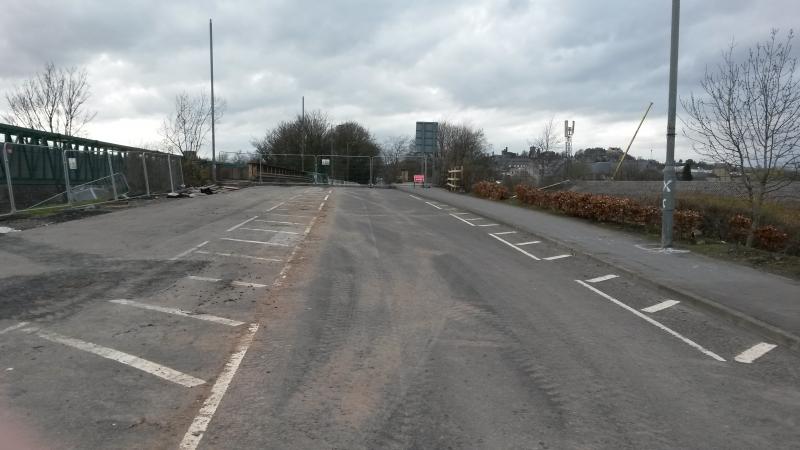
[[[800,442],[797,353],[396,190],[160,203],[0,261],[0,447]]]

